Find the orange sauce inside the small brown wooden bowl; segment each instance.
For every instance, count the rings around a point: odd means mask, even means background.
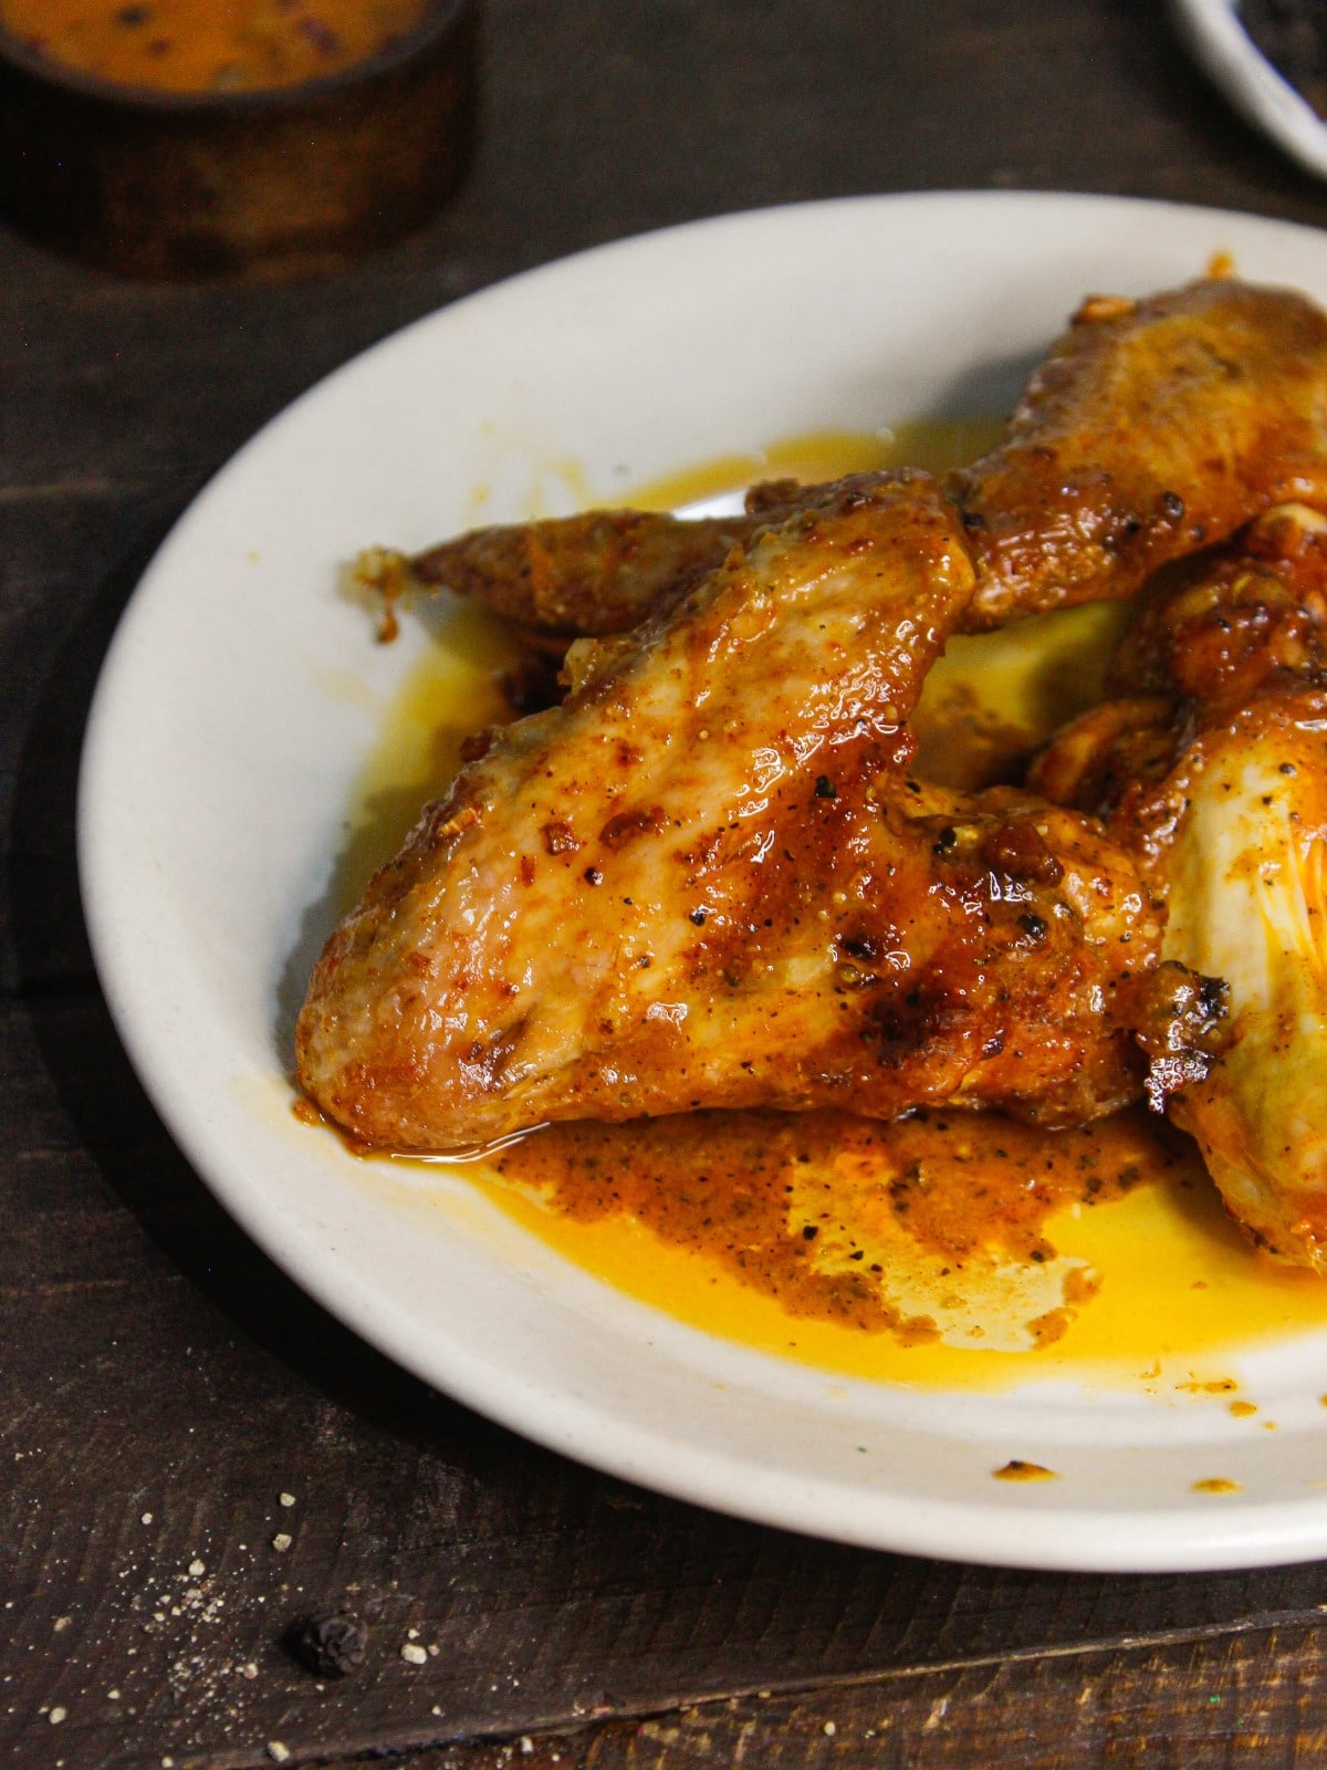
[[[241,92],[336,74],[414,30],[430,0],[0,0],[0,25],[85,74]]]

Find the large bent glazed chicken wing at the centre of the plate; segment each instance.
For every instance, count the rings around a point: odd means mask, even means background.
[[[846,480],[672,611],[571,650],[318,961],[299,1081],[352,1135],[451,1149],[550,1119],[931,1101],[1083,1122],[1205,1067],[1092,820],[906,775],[973,591],[922,474]]]

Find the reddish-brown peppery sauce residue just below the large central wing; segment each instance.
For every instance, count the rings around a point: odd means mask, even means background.
[[[1060,1338],[1097,1289],[1047,1218],[1182,1159],[1143,1113],[1047,1133],[964,1112],[713,1112],[547,1126],[490,1168],[575,1221],[633,1218],[791,1317],[1014,1351]]]

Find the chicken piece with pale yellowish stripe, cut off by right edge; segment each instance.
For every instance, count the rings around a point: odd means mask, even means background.
[[[1164,897],[1164,952],[1223,977],[1226,1050],[1171,1099],[1231,1214],[1327,1271],[1327,522],[1277,510],[1157,586],[1122,697],[1033,784],[1106,816]]]

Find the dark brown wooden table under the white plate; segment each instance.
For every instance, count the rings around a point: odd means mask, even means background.
[[[511,271],[752,205],[1028,186],[1327,221],[1327,188],[1226,112],[1152,0],[488,0],[485,21],[464,193],[340,274],[149,287],[0,232],[4,1761],[1323,1761],[1327,1570],[927,1563],[587,1473],[322,1315],[134,1081],[74,878],[88,696],[166,526],[326,370]],[[368,1660],[318,1683],[281,1637],[343,1605]]]

